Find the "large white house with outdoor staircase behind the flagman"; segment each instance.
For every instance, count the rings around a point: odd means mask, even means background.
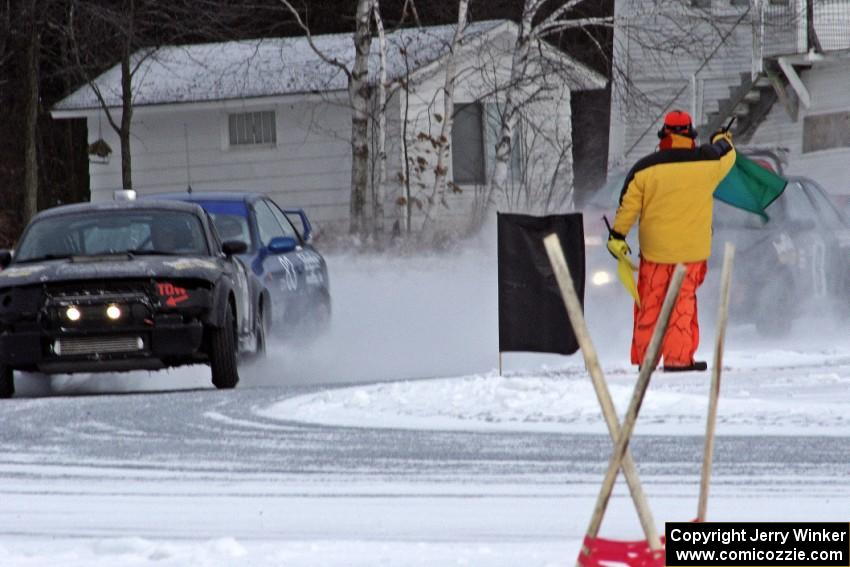
[[[672,108],[704,135],[734,115],[739,145],[781,152],[787,173],[850,201],[850,2],[616,0],[615,15],[629,80],[614,78],[610,169],[652,151]]]

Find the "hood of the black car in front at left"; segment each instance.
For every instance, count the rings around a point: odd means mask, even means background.
[[[0,272],[0,287],[102,279],[203,279],[214,282],[221,268],[212,258],[192,256],[80,257],[12,264]]]

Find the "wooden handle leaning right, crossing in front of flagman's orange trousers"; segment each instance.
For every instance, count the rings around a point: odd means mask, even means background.
[[[614,445],[614,452],[611,454],[611,460],[608,462],[608,470],[605,473],[605,478],[602,480],[602,487],[599,489],[599,496],[596,499],[596,506],[593,510],[593,515],[590,518],[590,525],[587,528],[589,537],[596,537],[599,533],[599,527],[602,525],[602,518],[605,516],[605,510],[608,508],[608,501],[611,498],[611,493],[614,490],[614,483],[617,480],[617,473],[623,462],[623,457],[629,447],[632,432],[637,423],[637,415],[640,411],[640,406],[643,403],[644,394],[649,386],[649,379],[658,363],[659,351],[661,350],[661,342],[664,339],[664,334],[667,331],[667,323],[670,321],[670,314],[673,312],[673,305],[679,296],[679,290],[682,287],[682,280],[685,278],[685,267],[678,264],[673,271],[673,277],[670,281],[670,287],[667,288],[667,295],[664,298],[664,303],[661,306],[661,313],[658,316],[658,321],[655,324],[655,330],[652,333],[652,339],[647,349],[646,357],[643,359],[638,381],[635,384],[635,391],[632,399],[629,402],[629,408],[626,410],[626,416],[623,419],[623,425],[620,428],[620,435],[617,437],[617,442]]]

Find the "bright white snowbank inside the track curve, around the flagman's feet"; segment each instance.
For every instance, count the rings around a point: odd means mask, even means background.
[[[718,427],[726,435],[850,434],[850,345],[818,352],[726,353]],[[620,416],[637,373],[615,368],[609,389]],[[709,374],[655,373],[637,434],[701,435]],[[572,364],[535,373],[489,374],[356,386],[298,396],[269,418],[346,427],[605,433],[590,378]]]

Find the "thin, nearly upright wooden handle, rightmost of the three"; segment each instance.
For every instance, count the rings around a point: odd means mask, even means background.
[[[708,418],[705,426],[705,452],[702,458],[702,475],[699,483],[697,521],[705,521],[708,509],[708,485],[711,481],[711,462],[714,458],[714,426],[717,423],[717,400],[720,397],[720,372],[723,369],[723,339],[726,337],[726,321],[729,319],[729,290],[732,286],[732,263],[735,245],[726,243],[723,252],[723,271],[720,275],[720,309],[717,316],[717,335],[714,340],[714,359],[711,362],[711,391],[708,399]]]

